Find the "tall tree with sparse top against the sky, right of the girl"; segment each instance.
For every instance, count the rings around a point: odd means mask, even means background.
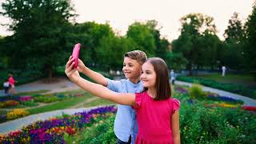
[[[181,18],[181,22],[181,35],[173,42],[173,50],[188,60],[186,67],[192,75],[193,66],[200,65],[204,59],[206,45],[210,46],[204,42],[204,34],[215,34],[216,27],[214,18],[203,14],[188,14]]]

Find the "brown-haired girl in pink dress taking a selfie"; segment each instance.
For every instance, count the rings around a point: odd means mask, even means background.
[[[161,58],[149,58],[142,65],[142,93],[123,94],[81,78],[73,69],[74,58],[66,63],[68,78],[82,89],[100,98],[122,105],[130,105],[136,111],[138,135],[135,143],[179,144],[179,101],[170,98],[170,82],[166,62]]]

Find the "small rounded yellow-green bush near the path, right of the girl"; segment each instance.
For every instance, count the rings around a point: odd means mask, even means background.
[[[189,89],[191,99],[204,98],[205,94],[202,91],[202,86],[199,84],[193,84]]]

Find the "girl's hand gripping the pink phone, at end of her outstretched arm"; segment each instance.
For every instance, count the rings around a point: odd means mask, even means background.
[[[78,68],[74,69],[74,58],[70,56],[68,62],[66,62],[65,74],[74,83],[78,82],[80,75],[78,73]]]

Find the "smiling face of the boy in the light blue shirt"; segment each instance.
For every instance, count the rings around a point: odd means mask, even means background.
[[[142,66],[134,59],[125,57],[123,60],[122,72],[126,78],[139,78],[141,75]]]

